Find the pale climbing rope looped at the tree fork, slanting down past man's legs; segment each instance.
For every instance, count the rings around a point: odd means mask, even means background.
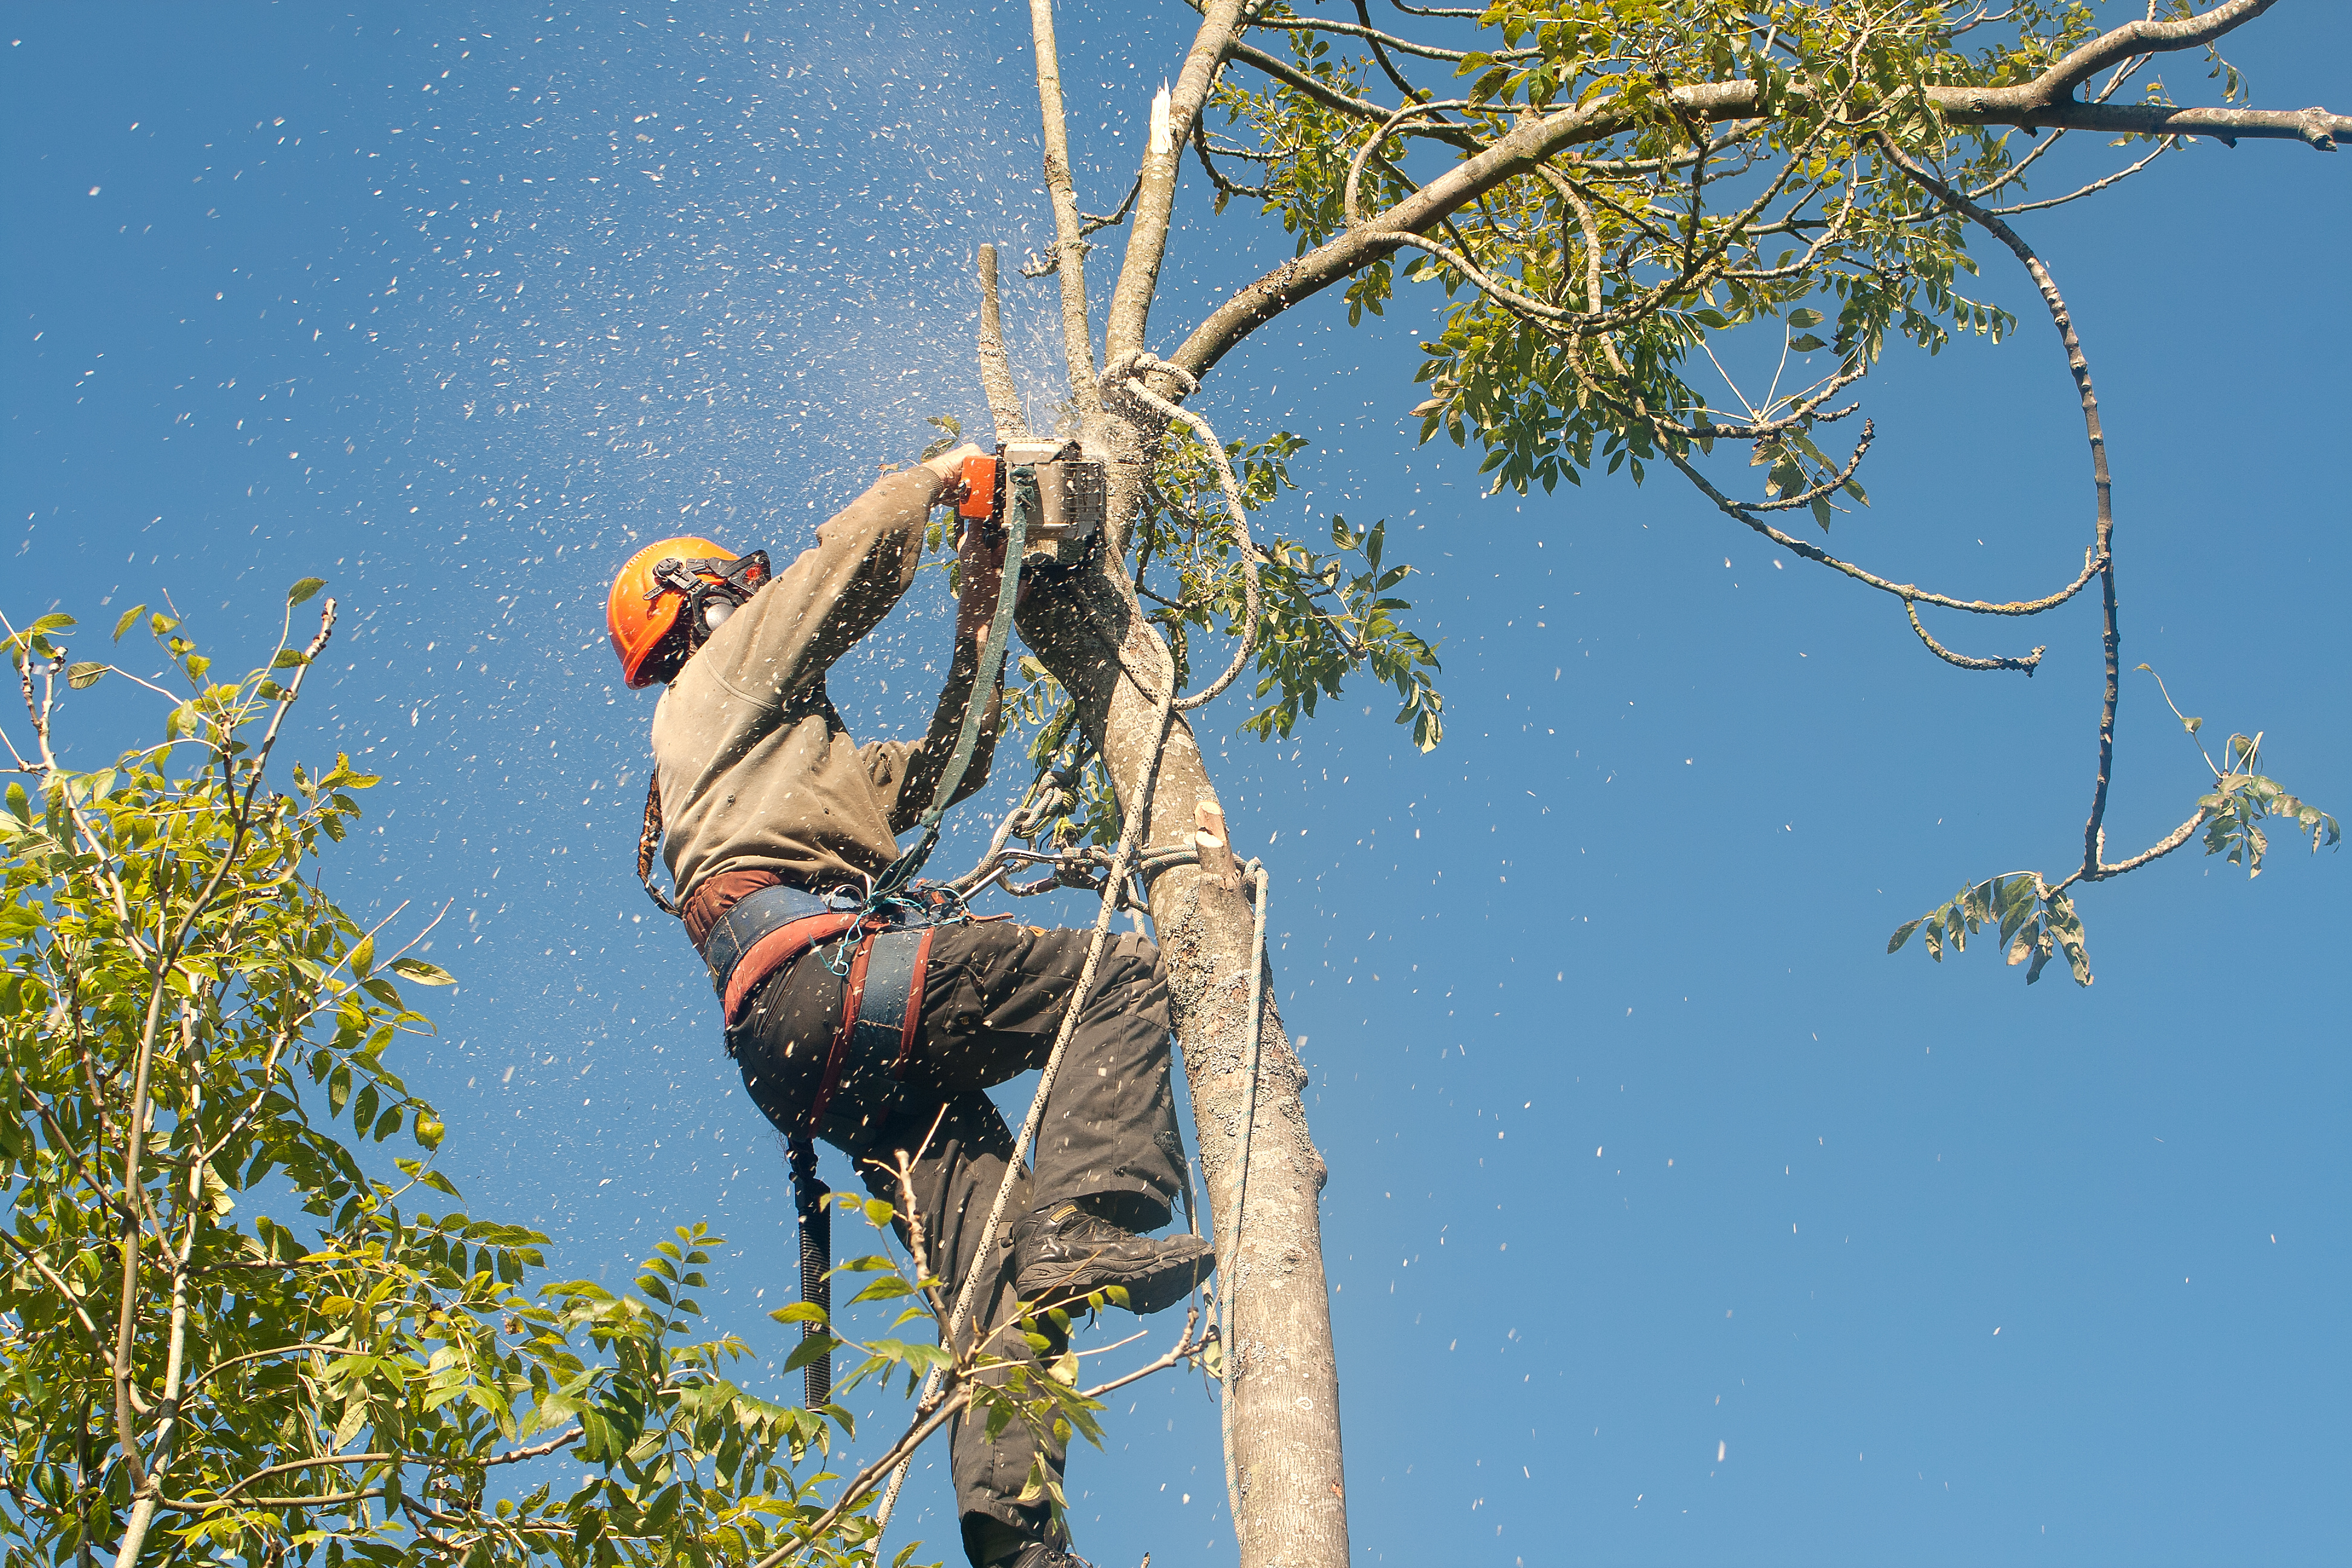
[[[1141,404],[1141,407],[1160,414],[1164,421],[1181,421],[1181,423],[1190,425],[1200,435],[1202,444],[1209,447],[1209,456],[1216,461],[1218,487],[1225,491],[1225,512],[1232,517],[1235,545],[1237,545],[1237,552],[1242,557],[1242,597],[1244,597],[1242,646],[1232,656],[1232,663],[1225,668],[1225,672],[1214,684],[1209,684],[1209,686],[1204,686],[1204,689],[1200,689],[1200,691],[1195,691],[1190,696],[1183,696],[1183,698],[1176,696],[1176,682],[1174,682],[1176,658],[1174,658],[1174,654],[1167,656],[1167,679],[1164,679],[1164,689],[1160,693],[1157,722],[1155,722],[1155,729],[1152,729],[1152,755],[1143,764],[1143,771],[1136,778],[1134,806],[1127,811],[1127,823],[1120,827],[1120,846],[1117,846],[1117,851],[1110,858],[1108,875],[1103,877],[1103,905],[1101,905],[1101,910],[1094,917],[1094,931],[1091,931],[1091,936],[1087,940],[1087,961],[1080,966],[1080,971],[1077,971],[1077,985],[1070,987],[1070,999],[1063,1004],[1061,1030],[1054,1034],[1054,1051],[1044,1058],[1044,1072],[1037,1077],[1037,1093],[1030,1098],[1028,1117],[1023,1117],[1023,1121],[1021,1121],[1021,1138],[1014,1143],[1014,1157],[1004,1164],[1004,1180],[997,1182],[997,1197],[988,1206],[988,1222],[981,1227],[981,1244],[971,1253],[971,1262],[964,1269],[964,1284],[957,1288],[957,1293],[955,1293],[955,1307],[948,1312],[948,1324],[943,1326],[941,1345],[946,1345],[950,1354],[955,1352],[955,1342],[971,1326],[971,1309],[974,1309],[974,1305],[978,1300],[981,1279],[988,1274],[988,1258],[990,1258],[990,1253],[995,1251],[995,1244],[997,1244],[997,1227],[1004,1220],[1004,1206],[1011,1201],[1014,1187],[1021,1182],[1021,1164],[1023,1164],[1025,1154],[1037,1143],[1037,1126],[1044,1121],[1047,1095],[1054,1093],[1054,1079],[1061,1072],[1063,1051],[1068,1051],[1070,1034],[1077,1027],[1077,1006],[1080,1006],[1080,1001],[1084,1001],[1087,990],[1094,985],[1094,971],[1096,971],[1096,966],[1103,959],[1103,938],[1110,933],[1110,919],[1120,910],[1120,893],[1122,893],[1122,889],[1127,884],[1131,863],[1136,858],[1136,846],[1138,846],[1138,839],[1143,837],[1143,823],[1150,816],[1152,788],[1160,783],[1160,759],[1167,755],[1169,724],[1174,722],[1174,717],[1178,712],[1188,712],[1192,708],[1200,708],[1202,703],[1207,703],[1216,693],[1221,693],[1225,686],[1230,686],[1235,682],[1235,677],[1242,672],[1242,665],[1249,663],[1249,656],[1258,646],[1258,548],[1249,538],[1249,512],[1242,508],[1242,484],[1240,484],[1240,480],[1235,480],[1232,463],[1225,458],[1225,447],[1223,447],[1223,442],[1216,440],[1216,430],[1209,425],[1209,421],[1202,418],[1200,414],[1192,414],[1190,409],[1181,409],[1178,404],[1167,402],[1164,397],[1160,397],[1157,393],[1152,393],[1148,386],[1143,386],[1143,381],[1138,376],[1145,374],[1145,371],[1160,371],[1160,374],[1171,376],[1174,381],[1178,381],[1183,386],[1185,395],[1192,395],[1192,393],[1200,390],[1200,378],[1192,371],[1188,371],[1188,369],[1183,369],[1178,364],[1169,364],[1167,360],[1160,360],[1157,355],[1148,355],[1148,353],[1122,355],[1122,357],[1112,360],[1110,367],[1101,376],[1098,390],[1105,395],[1105,400],[1124,395],[1127,400],[1131,400],[1131,402],[1136,402],[1136,404]],[[1120,668],[1127,670],[1127,677],[1134,679],[1138,689],[1150,691],[1150,684],[1143,682],[1143,679],[1138,679],[1136,672],[1134,672],[1134,668],[1127,665],[1124,654],[1120,656]],[[1105,766],[1108,766],[1108,762],[1105,762]],[[990,846],[990,856],[1000,856],[1000,853],[1002,853],[1002,837],[1000,837],[997,844]],[[1261,957],[1258,957],[1258,964],[1256,964],[1258,973],[1251,976],[1251,1084],[1249,1084],[1251,1114],[1256,1112],[1258,976],[1263,976],[1263,969],[1265,969],[1265,964],[1263,964],[1263,947],[1265,947],[1265,912],[1263,912],[1265,910],[1265,900],[1263,900],[1263,884],[1265,884],[1265,872],[1261,870],[1258,872],[1258,947],[1256,947],[1256,952]],[[1244,1138],[1244,1143],[1242,1143],[1242,1157],[1244,1157],[1244,1175],[1247,1175],[1247,1157],[1249,1157],[1249,1143],[1247,1143],[1249,1140],[1249,1131],[1247,1131],[1247,1124],[1244,1124],[1242,1138]],[[1228,1309],[1228,1319],[1230,1319],[1230,1291],[1225,1291],[1225,1309]],[[938,1385],[941,1385],[941,1368],[934,1366],[931,1375],[922,1385],[922,1399],[915,1406],[917,1413],[927,1415],[929,1410],[938,1408]],[[1232,1443],[1228,1443],[1225,1448],[1230,1453]],[[908,1469],[913,1465],[915,1465],[915,1455],[913,1453],[908,1458],[898,1460],[898,1469],[891,1472],[889,1488],[884,1488],[882,1502],[880,1502],[880,1507],[875,1507],[875,1530],[877,1530],[877,1535],[875,1535],[875,1554],[877,1554],[877,1559],[875,1561],[880,1561],[880,1530],[889,1523],[889,1514],[898,1505],[898,1488],[906,1486],[906,1474],[908,1474]],[[1230,1460],[1228,1460],[1228,1469],[1230,1469]]]

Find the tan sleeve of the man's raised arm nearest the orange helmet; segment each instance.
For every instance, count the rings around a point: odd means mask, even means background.
[[[884,475],[816,529],[816,543],[729,616],[689,661],[748,698],[804,691],[915,583],[938,491],[924,468]]]

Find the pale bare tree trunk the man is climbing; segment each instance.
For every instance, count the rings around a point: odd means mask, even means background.
[[[1080,722],[1110,769],[1124,813],[1138,806],[1136,785],[1150,769],[1157,738],[1160,682],[1171,670],[1167,646],[1117,571],[1150,451],[1143,433],[1117,418],[1098,428],[1103,440],[1089,447],[1110,458],[1108,548],[1070,581],[1033,592],[1021,611],[1021,632],[1077,698]],[[1223,651],[1216,656],[1223,658]],[[1178,715],[1157,783],[1143,802],[1150,816],[1141,842],[1190,844],[1202,802],[1216,804],[1216,785],[1192,726]],[[1207,882],[1192,865],[1162,872],[1150,903],[1192,1091],[1218,1291],[1232,1293],[1225,1490],[1242,1568],[1345,1568],[1338,1363],[1317,1213],[1324,1161],[1308,1138],[1301,1100],[1305,1070],[1291,1053],[1268,976],[1256,1124],[1247,1140],[1247,1211],[1235,1227],[1249,1095],[1249,980],[1251,961],[1265,961],[1265,954],[1251,952],[1249,898]]]

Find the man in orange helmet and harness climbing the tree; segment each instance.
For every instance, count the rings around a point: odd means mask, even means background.
[[[710,969],[743,1086],[797,1157],[802,1140],[823,1138],[889,1201],[901,1201],[894,1154],[906,1152],[931,1253],[922,1265],[950,1293],[1018,1154],[985,1091],[1044,1065],[1087,954],[1084,931],[873,900],[898,858],[896,835],[953,771],[978,701],[1004,574],[993,520],[971,522],[957,545],[955,656],[920,743],[851,741],[826,670],[913,585],[924,520],[960,496],[967,456],[978,447],[884,475],[774,581],[764,552],[666,538],[630,557],[607,604],[628,684],[668,686],[654,710],[640,875],[663,844],[680,898],[656,900],[684,919]],[[988,778],[1002,696],[997,661],[953,799]],[[1181,1300],[1209,1267],[1207,1244],[1143,1234],[1169,1222],[1181,1185],[1167,976],[1157,947],[1124,936],[1077,1001],[1028,1192],[1042,1199],[981,1262],[978,1321],[1002,1331],[1016,1300],[1105,1288],[1124,1288],[1141,1314]],[[1025,1354],[1018,1335],[1000,1347]],[[1061,1465],[1061,1443],[1040,1450],[1018,1425],[995,1441],[983,1422],[957,1425],[957,1512],[974,1563],[1077,1561],[1035,1486],[1058,1481]]]

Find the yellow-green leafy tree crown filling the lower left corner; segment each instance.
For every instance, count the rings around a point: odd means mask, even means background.
[[[390,1065],[430,1027],[400,987],[452,983],[423,957],[433,922],[393,947],[402,910],[362,924],[322,886],[376,780],[336,757],[263,790],[332,611],[235,682],[153,616],[188,696],[68,663],[68,616],[9,635],[33,724],[9,741],[33,788],[0,813],[9,1561],[870,1561],[873,1476],[823,1469],[849,1413],[750,1394],[724,1375],[750,1347],[696,1338],[717,1237],[680,1229],[633,1293],[534,1288],[546,1237],[463,1213],[433,1168],[442,1121]],[[68,771],[59,703],[108,675],[172,703],[167,738]],[[379,1152],[395,1135],[414,1154]],[[433,1194],[449,1208],[416,1208]],[[922,1288],[884,1255],[844,1267],[875,1274],[858,1300]],[[858,1375],[941,1359],[818,1326]],[[955,1394],[1007,1356],[950,1361]],[[1096,1434],[1075,1378],[981,1399],[993,1422]]]

